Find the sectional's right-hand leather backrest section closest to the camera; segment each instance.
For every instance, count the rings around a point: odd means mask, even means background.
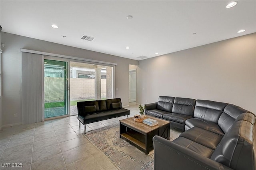
[[[244,113],[239,118],[248,121],[234,122],[214,150],[211,159],[234,170],[255,170],[255,116],[252,113]]]

